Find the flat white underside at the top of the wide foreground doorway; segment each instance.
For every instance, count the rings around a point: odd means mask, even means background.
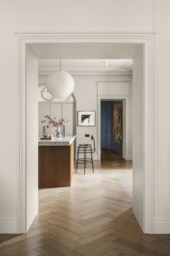
[[[30,44],[37,59],[133,59],[139,44],[48,43]]]

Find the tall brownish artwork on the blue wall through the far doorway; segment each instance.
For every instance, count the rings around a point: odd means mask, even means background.
[[[116,143],[122,144],[122,103],[113,106],[113,137]]]

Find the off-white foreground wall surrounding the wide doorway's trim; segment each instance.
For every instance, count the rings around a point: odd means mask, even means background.
[[[17,5],[18,3],[18,5]],[[153,9],[154,5],[154,9]],[[0,231],[17,232],[17,35],[23,31],[156,31],[153,187],[155,232],[170,233],[169,0],[1,0]],[[31,19],[30,19],[31,17]],[[9,75],[10,74],[10,75]],[[6,106],[6,99],[8,105]],[[84,104],[83,104],[84,105]],[[4,108],[4,106],[6,106]],[[83,106],[82,106],[83,107]],[[92,106],[93,107],[93,106]],[[9,124],[10,118],[10,124]],[[12,124],[12,126],[11,126]],[[10,137],[10,140],[7,139]]]

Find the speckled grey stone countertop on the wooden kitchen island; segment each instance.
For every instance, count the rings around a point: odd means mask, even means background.
[[[53,138],[52,140],[38,140],[39,146],[70,146],[76,135],[63,136],[61,138]]]

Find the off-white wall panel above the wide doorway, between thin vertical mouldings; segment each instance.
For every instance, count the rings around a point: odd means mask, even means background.
[[[21,5],[22,30],[100,32],[153,29],[152,0],[22,0]]]

